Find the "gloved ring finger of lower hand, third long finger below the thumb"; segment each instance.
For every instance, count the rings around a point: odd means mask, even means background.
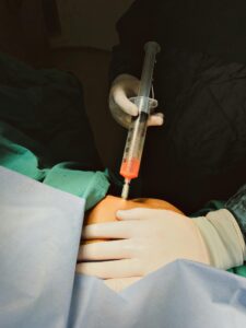
[[[94,276],[101,279],[141,277],[137,259],[121,259],[101,262],[82,262],[77,265],[77,273]]]

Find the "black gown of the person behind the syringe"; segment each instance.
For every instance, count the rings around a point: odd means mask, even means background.
[[[154,89],[165,125],[149,128],[142,196],[187,214],[246,183],[246,2],[134,1],[117,24],[110,80],[140,77],[143,44],[162,46]]]

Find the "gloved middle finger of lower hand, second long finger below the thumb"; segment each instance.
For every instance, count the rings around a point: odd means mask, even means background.
[[[132,247],[128,239],[93,243],[80,246],[79,260],[113,260],[130,258]]]

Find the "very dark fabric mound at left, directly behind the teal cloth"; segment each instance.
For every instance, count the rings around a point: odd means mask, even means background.
[[[51,165],[78,162],[81,169],[103,169],[82,86],[71,73],[35,70],[0,54],[0,120],[43,145],[50,153]]]

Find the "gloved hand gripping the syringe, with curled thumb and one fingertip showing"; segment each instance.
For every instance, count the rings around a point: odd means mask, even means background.
[[[137,96],[140,81],[129,74],[120,74],[115,79],[109,92],[109,108],[115,120],[128,128],[132,116],[138,115],[138,107],[128,97]],[[151,115],[148,126],[163,125],[163,114]]]

